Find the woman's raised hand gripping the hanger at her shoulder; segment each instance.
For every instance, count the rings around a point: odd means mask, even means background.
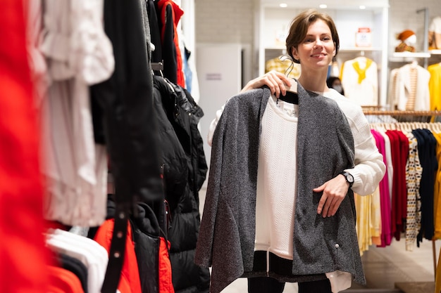
[[[291,82],[290,79],[285,76],[285,74],[282,74],[275,70],[271,70],[270,72],[266,72],[266,74],[263,74],[261,77],[251,79],[240,92],[242,93],[244,91],[249,91],[250,89],[258,89],[261,86],[265,85],[268,86],[271,93],[279,98],[280,93],[282,93],[282,96],[285,96],[285,85],[290,88]]]

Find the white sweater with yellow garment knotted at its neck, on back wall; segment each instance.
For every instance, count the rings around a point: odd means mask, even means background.
[[[361,106],[378,105],[378,68],[375,61],[366,57],[345,61],[340,79],[344,96]]]

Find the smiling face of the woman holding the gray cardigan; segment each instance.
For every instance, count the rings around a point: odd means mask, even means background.
[[[311,68],[318,70],[328,65],[335,56],[335,44],[330,28],[321,19],[311,23],[302,43],[292,48],[292,56],[300,61],[302,71]]]

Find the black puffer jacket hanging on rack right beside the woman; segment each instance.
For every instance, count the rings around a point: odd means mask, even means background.
[[[199,234],[199,190],[207,173],[197,124],[204,115],[190,93],[154,77],[154,111],[159,119],[166,200],[170,206],[170,262],[177,293],[209,292],[210,275],[194,264]]]

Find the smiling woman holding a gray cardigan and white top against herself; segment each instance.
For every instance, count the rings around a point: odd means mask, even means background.
[[[383,157],[361,108],[326,85],[339,48],[333,20],[300,13],[286,44],[302,67],[298,81],[278,72],[251,80],[211,126],[195,261],[212,266],[213,293],[239,277],[250,293],[282,292],[285,282],[335,293],[366,282],[354,192],[373,193]],[[299,105],[279,100],[296,83]]]

